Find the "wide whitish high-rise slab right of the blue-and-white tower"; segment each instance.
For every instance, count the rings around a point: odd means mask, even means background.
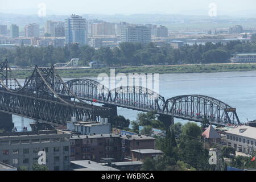
[[[151,30],[147,26],[126,26],[121,28],[121,42],[147,44],[151,42]]]

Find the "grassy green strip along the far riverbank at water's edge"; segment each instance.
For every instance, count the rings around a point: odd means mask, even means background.
[[[189,65],[152,65],[140,67],[108,67],[108,68],[76,68],[56,69],[58,75],[63,78],[97,77],[100,73],[110,75],[110,69],[118,73],[217,73],[217,72],[243,72],[256,71],[256,63],[224,63],[224,64],[189,64]],[[24,79],[31,76],[32,70],[13,71],[14,76]]]

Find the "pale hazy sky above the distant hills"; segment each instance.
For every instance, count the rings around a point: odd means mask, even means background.
[[[216,3],[217,10],[222,14],[256,9],[255,0],[0,0],[0,12],[36,14],[39,3],[45,3],[51,14],[177,14],[188,10],[208,12],[210,3]]]

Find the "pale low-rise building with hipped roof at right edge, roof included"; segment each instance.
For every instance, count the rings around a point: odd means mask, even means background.
[[[226,144],[238,152],[252,154],[256,148],[256,128],[244,125],[226,131]]]

